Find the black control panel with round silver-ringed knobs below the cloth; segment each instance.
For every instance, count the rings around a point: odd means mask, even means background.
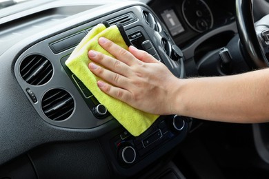
[[[122,131],[110,140],[110,149],[121,167],[131,167],[172,138],[185,136],[191,122],[185,116],[161,116],[141,136]]]

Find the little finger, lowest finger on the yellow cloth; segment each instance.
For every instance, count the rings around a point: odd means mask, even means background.
[[[121,89],[119,87],[114,87],[108,83],[104,83],[103,81],[97,82],[98,87],[101,89],[102,92],[112,96],[113,98],[117,98],[123,102],[130,102],[131,93],[125,89]]]

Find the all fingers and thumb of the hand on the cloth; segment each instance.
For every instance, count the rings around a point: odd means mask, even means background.
[[[129,52],[103,37],[99,38],[99,44],[116,59],[94,50],[88,52],[89,58],[95,62],[89,63],[89,69],[96,76],[108,82],[98,81],[97,85],[106,94],[130,103],[133,98],[132,89],[136,88],[133,81],[135,76],[140,73],[141,65],[160,62],[143,50],[130,46]]]

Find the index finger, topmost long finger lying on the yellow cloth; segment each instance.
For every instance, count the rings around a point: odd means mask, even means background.
[[[135,57],[130,54],[127,50],[121,48],[119,45],[113,43],[112,41],[106,39],[106,38],[99,38],[99,44],[110,54],[112,54],[116,59],[119,61],[122,61],[123,63],[126,63],[127,65],[132,65],[137,61]]]

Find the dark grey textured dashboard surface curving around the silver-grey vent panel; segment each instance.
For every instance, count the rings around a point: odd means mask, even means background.
[[[59,3],[57,3],[57,6],[59,6]],[[3,164],[15,156],[19,156],[19,154],[23,154],[29,149],[37,147],[43,143],[96,138],[100,134],[104,134],[112,129],[113,126],[119,126],[119,124],[114,123],[114,121],[106,123],[101,127],[83,130],[49,125],[39,114],[37,114],[36,110],[30,103],[31,100],[28,98],[28,95],[23,93],[25,89],[20,87],[14,75],[14,72],[17,72],[18,70],[14,69],[14,64],[19,55],[23,54],[23,52],[30,48],[30,46],[37,44],[54,34],[72,29],[76,27],[78,23],[86,23],[87,21],[90,21],[90,17],[97,18],[98,16],[106,14],[108,10],[112,10],[113,8],[116,10],[117,8],[124,6],[130,6],[130,3],[121,3],[121,5],[115,3],[114,6],[111,5],[101,9],[97,8],[94,12],[90,11],[82,12],[79,15],[75,14],[72,17],[58,21],[57,25],[45,28],[39,32],[32,30],[29,26],[28,32],[30,34],[32,33],[32,36],[26,34],[26,36],[21,36],[20,41],[17,41],[16,39],[14,41],[9,41],[6,45],[3,45],[5,42],[1,42],[1,46],[8,47],[8,50],[3,48],[5,52],[0,56],[0,73],[2,76],[0,80],[0,100],[5,101],[5,103],[1,103],[0,105],[0,140],[2,141],[0,150],[1,154],[5,154],[0,156],[0,164]],[[53,6],[49,7],[52,8]],[[41,11],[43,8],[44,7],[42,6]],[[42,52],[43,51],[41,50],[39,53]]]

